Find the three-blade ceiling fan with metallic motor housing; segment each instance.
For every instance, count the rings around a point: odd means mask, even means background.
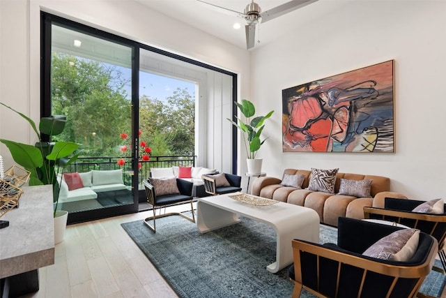
[[[259,4],[255,3],[254,0],[252,0],[251,3],[249,3],[246,6],[245,11],[243,13],[240,13],[236,10],[231,10],[229,8],[224,8],[222,6],[217,6],[215,4],[208,3],[205,1],[201,0],[197,1],[207,4],[208,6],[212,6],[213,8],[216,8],[217,10],[220,10],[223,13],[229,13],[230,15],[235,15],[236,17],[243,17],[247,22],[247,25],[245,25],[246,47],[247,49],[250,49],[254,47],[254,39],[256,36],[256,24],[268,22],[269,20],[272,20],[275,17],[279,17],[286,13],[290,13],[293,10],[296,10],[303,6],[307,6],[308,4],[311,4],[318,0],[292,0],[282,5],[276,6],[275,8],[271,8],[270,10],[266,10],[263,13],[261,11]]]

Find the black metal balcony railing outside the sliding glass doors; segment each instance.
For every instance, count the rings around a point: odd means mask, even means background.
[[[118,165],[118,160],[124,159],[124,165]],[[138,171],[138,183],[150,177],[151,168],[153,167],[193,167],[197,156],[183,155],[183,156],[151,156],[149,161],[139,161],[141,168]],[[76,163],[68,165],[66,172],[89,172],[91,170],[118,170],[123,169],[124,183],[132,185],[133,169],[131,158],[126,156],[93,156],[93,157],[79,157]]]

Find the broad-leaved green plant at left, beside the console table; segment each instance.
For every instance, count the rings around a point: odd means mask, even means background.
[[[48,135],[51,141],[52,136],[62,133],[63,128],[65,128],[66,117],[58,115],[41,118],[39,132],[36,123],[31,118],[4,103],[0,103],[0,105],[19,114],[29,122],[31,128],[36,133],[39,142],[35,146],[4,139],[0,139],[0,142],[8,147],[16,163],[31,172],[29,178],[30,186],[52,184],[55,214],[57,204],[59,203],[60,192],[57,175],[63,174],[65,167],[77,159],[78,154],[71,158],[68,158],[68,156],[74,153],[77,147],[79,147],[79,144],[65,141],[43,142],[41,135]]]

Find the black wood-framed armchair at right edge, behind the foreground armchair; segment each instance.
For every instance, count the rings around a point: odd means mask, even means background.
[[[364,218],[375,218],[406,225],[430,234],[438,241],[438,256],[443,269],[433,267],[434,270],[446,272],[446,253],[443,249],[446,237],[446,214],[427,214],[413,212],[412,210],[424,203],[420,200],[407,200],[398,198],[385,198],[384,208],[364,207]],[[446,204],[444,204],[446,210]]]

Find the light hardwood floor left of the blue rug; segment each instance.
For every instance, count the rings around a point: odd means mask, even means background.
[[[152,211],[68,225],[54,265],[39,269],[40,290],[23,297],[177,297],[121,228]],[[162,231],[159,231],[162,232]]]

